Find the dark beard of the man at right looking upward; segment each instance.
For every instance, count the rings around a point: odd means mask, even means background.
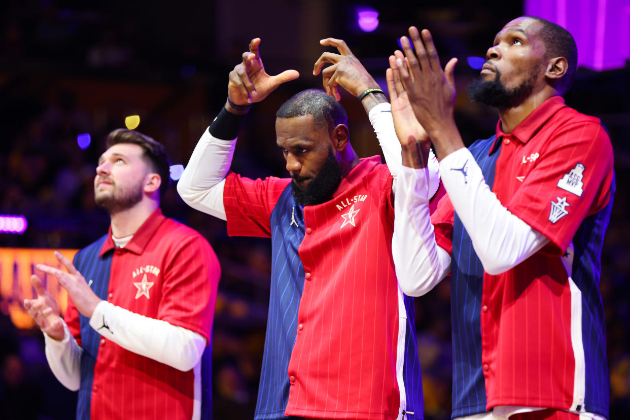
[[[501,73],[496,71],[496,77],[492,81],[475,79],[467,86],[468,96],[471,101],[493,106],[500,110],[514,108],[525,102],[525,99],[534,91],[536,74],[530,74],[529,79],[523,81],[516,88],[508,89],[500,81]]]

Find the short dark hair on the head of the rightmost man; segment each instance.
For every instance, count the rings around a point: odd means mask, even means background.
[[[573,78],[575,77],[575,71],[578,68],[578,46],[575,43],[575,39],[573,39],[573,35],[562,26],[539,18],[538,16],[525,17],[535,19],[542,23],[539,35],[542,39],[542,43],[545,45],[547,57],[564,57],[566,59],[568,64],[566,74],[558,81],[558,86],[555,86],[560,93],[565,93],[571,87],[571,83],[573,83]]]

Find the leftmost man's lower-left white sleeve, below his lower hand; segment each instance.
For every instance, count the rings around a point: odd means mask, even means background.
[[[76,391],[81,386],[81,354],[83,349],[79,347],[66,322],[64,322],[64,338],[57,341],[46,333],[43,334],[46,344],[46,360],[55,378],[64,387]]]

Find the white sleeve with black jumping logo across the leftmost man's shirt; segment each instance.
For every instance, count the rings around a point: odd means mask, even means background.
[[[106,322],[108,328],[100,328]],[[89,320],[101,336],[140,356],[186,372],[203,355],[205,338],[197,332],[152,319],[103,300]]]

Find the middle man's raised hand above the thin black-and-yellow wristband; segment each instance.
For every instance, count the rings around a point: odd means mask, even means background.
[[[343,40],[326,38],[319,43],[326,47],[335,47],[339,51],[339,54],[324,52],[313,67],[314,76],[321,72],[326,93],[339,101],[341,96],[337,90],[338,85],[357,97],[366,89],[379,88],[374,77],[370,76]],[[331,65],[322,71],[326,63]]]

